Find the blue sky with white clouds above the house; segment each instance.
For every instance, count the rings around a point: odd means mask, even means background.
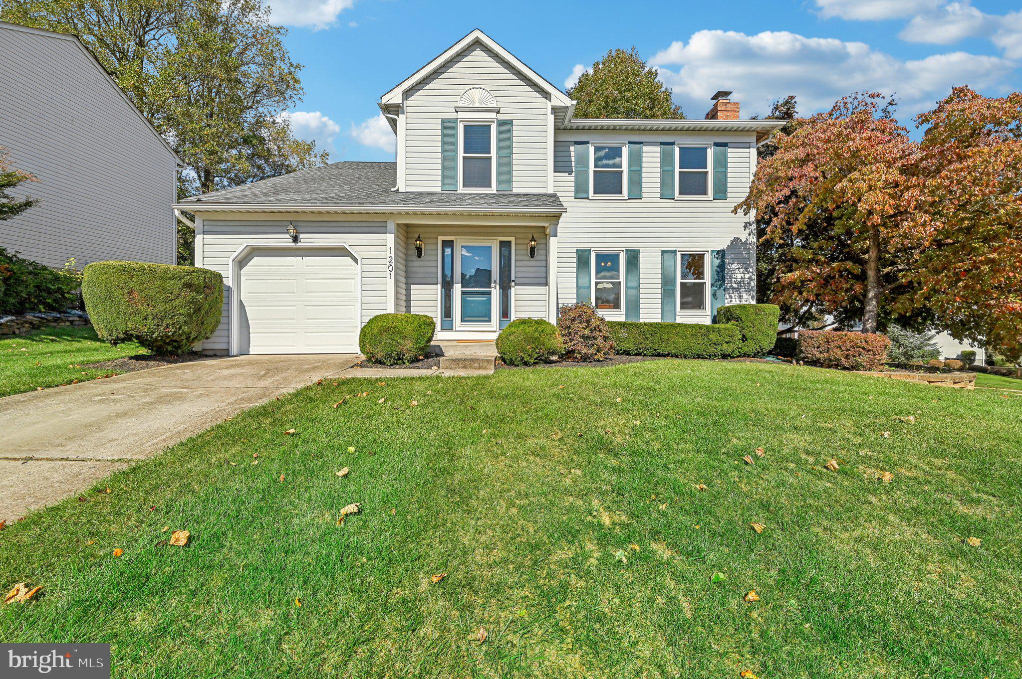
[[[333,160],[388,160],[393,136],[376,101],[478,28],[558,87],[608,49],[635,45],[689,117],[716,90],[742,116],[795,94],[799,110],[855,90],[895,93],[904,122],[953,85],[1022,89],[1018,0],[269,0],[305,64],[295,134]]]

